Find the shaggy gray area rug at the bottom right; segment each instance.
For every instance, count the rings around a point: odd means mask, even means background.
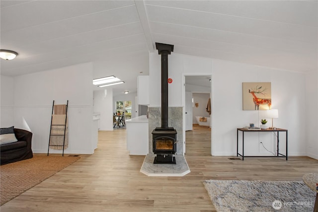
[[[312,212],[316,193],[303,181],[206,180],[218,212]]]

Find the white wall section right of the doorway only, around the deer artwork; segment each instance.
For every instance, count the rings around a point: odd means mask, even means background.
[[[236,128],[248,123],[260,123],[262,111],[242,110],[242,82],[271,82],[272,108],[279,110],[274,125],[288,129],[288,154],[306,155],[305,139],[305,75],[261,68],[257,66],[213,60],[212,108],[213,148],[215,155],[236,151]],[[258,125],[256,124],[256,125]],[[280,151],[284,153],[284,133],[280,133]],[[222,140],[223,142],[218,142]],[[246,155],[271,155],[276,137],[272,133],[250,133],[245,136]]]

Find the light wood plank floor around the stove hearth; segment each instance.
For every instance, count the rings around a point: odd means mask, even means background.
[[[98,148],[1,206],[1,212],[213,212],[203,180],[302,180],[318,171],[309,157],[246,158],[210,155],[209,129],[186,132],[184,177],[140,173],[145,156],[130,156],[126,130],[100,131]],[[235,145],[235,141],[233,142]]]

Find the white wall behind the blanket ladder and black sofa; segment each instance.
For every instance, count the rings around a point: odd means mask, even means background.
[[[33,133],[34,153],[47,153],[53,100],[56,105],[69,100],[69,147],[64,153],[93,153],[91,73],[91,63],[85,63],[14,77],[14,125]]]

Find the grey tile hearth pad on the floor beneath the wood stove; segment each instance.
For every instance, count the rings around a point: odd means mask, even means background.
[[[183,155],[174,155],[176,164],[154,164],[154,154],[148,154],[140,172],[147,176],[182,177],[190,173],[189,166]]]

